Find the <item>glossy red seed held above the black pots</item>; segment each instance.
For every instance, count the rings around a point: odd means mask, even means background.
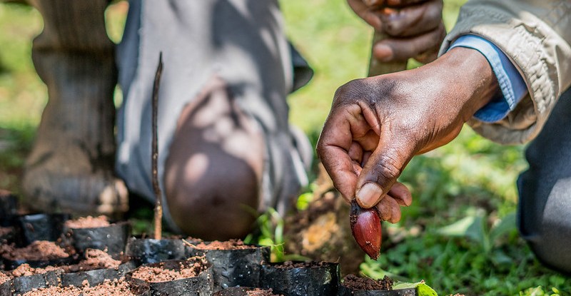
[[[379,257],[380,244],[383,240],[377,208],[364,209],[353,200],[349,219],[353,238],[369,257],[376,260]]]

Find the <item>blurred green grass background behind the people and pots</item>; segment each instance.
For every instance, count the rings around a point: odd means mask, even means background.
[[[448,29],[464,2],[444,1]],[[288,98],[290,117],[315,143],[336,88],[365,76],[372,30],[345,1],[282,0],[281,6],[288,36],[315,70],[313,81]],[[121,39],[127,7],[118,1],[106,11],[113,41]],[[31,63],[31,40],[42,26],[31,7],[0,4],[0,188],[16,193],[46,104]],[[523,148],[498,146],[466,127],[448,146],[415,158],[400,178],[414,203],[400,223],[384,225],[389,239],[378,261],[361,265],[363,273],[425,280],[440,295],[571,295],[571,280],[542,267],[515,229]]]

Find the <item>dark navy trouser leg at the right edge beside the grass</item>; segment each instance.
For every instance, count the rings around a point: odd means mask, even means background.
[[[571,89],[527,148],[520,175],[517,226],[537,258],[571,272]]]

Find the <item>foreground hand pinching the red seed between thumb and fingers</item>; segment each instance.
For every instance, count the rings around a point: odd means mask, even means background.
[[[412,197],[397,178],[414,155],[445,145],[498,90],[481,53],[455,48],[409,71],[338,88],[317,152],[348,201],[396,223]]]

